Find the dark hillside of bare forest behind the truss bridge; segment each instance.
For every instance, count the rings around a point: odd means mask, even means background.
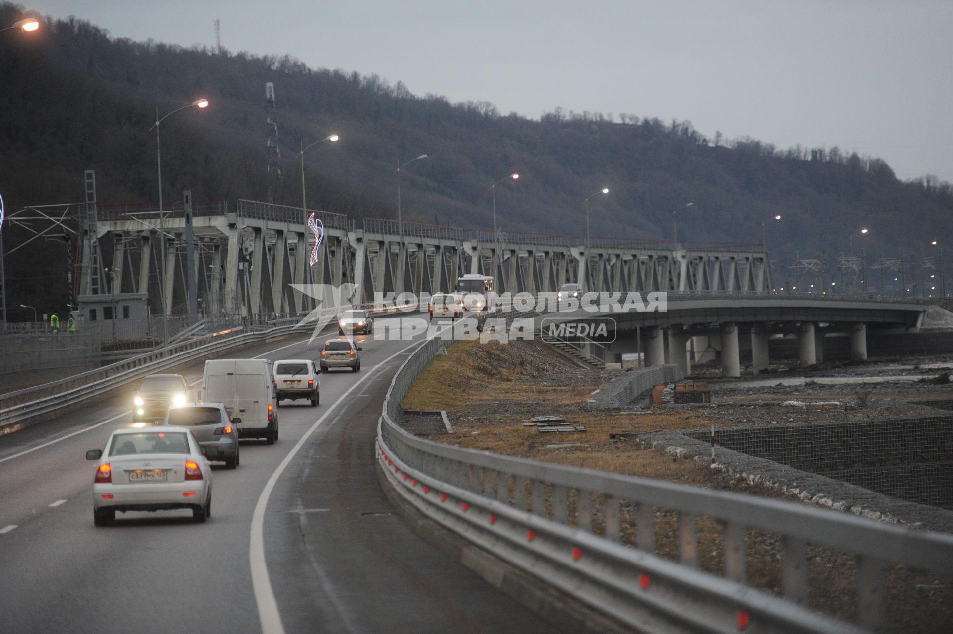
[[[0,24],[22,13],[0,5]],[[79,20],[45,19],[29,36],[0,38],[0,192],[8,212],[80,200],[90,168],[101,202],[156,201],[155,108],[170,112],[200,96],[211,101],[208,109],[162,124],[166,199],[183,189],[196,199],[266,199],[264,85],[274,82],[283,159],[275,202],[300,204],[299,144],[338,133],[338,143],[306,154],[308,203],[355,217],[395,216],[395,168],[426,153],[401,173],[405,218],[422,222],[490,227],[491,183],[518,172],[517,182],[497,186],[504,230],[584,235],[583,199],[604,186],[610,194],[590,201],[593,235],[671,238],[672,211],[694,202],[679,212],[680,240],[760,242],[767,222],[767,244],[779,259],[851,247],[899,256],[953,237],[949,183],[902,182],[882,160],[836,148],[780,150],[708,137],[653,115],[662,112],[556,109],[528,119],[486,102],[416,95],[375,74],[132,42]],[[639,112],[639,104],[628,110]],[[4,231],[9,249],[19,238]],[[56,248],[38,245],[34,272],[47,266],[44,250]],[[27,265],[8,262],[8,275],[10,266]]]

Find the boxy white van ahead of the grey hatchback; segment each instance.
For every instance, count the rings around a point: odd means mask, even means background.
[[[264,358],[220,358],[205,362],[202,401],[225,404],[239,418],[238,438],[278,440],[278,409],[272,362]]]

